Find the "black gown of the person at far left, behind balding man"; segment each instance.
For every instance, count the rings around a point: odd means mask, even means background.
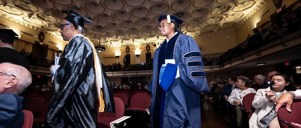
[[[1,47],[0,48],[0,63],[13,63],[16,65],[20,65],[24,68],[26,68],[29,71],[29,62],[28,59],[20,54],[20,52],[17,52],[14,49],[7,48],[7,47]],[[20,96],[24,97],[23,100],[23,108],[27,109],[27,95],[28,95],[28,89],[26,88]]]

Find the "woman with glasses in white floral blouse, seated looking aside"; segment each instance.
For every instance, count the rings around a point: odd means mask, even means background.
[[[249,93],[256,93],[256,90],[253,88],[248,88],[247,85],[249,85],[249,79],[245,76],[238,76],[236,81],[236,86],[238,88],[233,89],[231,92],[231,95],[228,98],[228,101],[232,105],[236,105],[235,111],[237,114],[237,127],[242,126],[242,115],[241,110],[242,108],[242,102],[245,95]]]

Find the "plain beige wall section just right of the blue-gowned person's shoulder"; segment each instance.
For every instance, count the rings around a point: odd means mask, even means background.
[[[229,39],[226,39],[229,37]],[[217,34],[213,36],[198,37],[194,39],[197,45],[201,45],[202,54],[225,52],[237,45],[235,32]]]

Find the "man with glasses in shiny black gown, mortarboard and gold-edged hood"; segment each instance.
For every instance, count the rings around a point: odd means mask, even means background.
[[[96,127],[97,112],[113,112],[105,74],[93,43],[82,35],[84,22],[93,23],[74,10],[61,22],[61,36],[69,41],[54,74],[47,123],[51,127]],[[110,81],[108,81],[110,86]],[[95,87],[96,86],[96,87]],[[103,93],[103,96],[101,95]],[[97,108],[98,101],[100,107]]]

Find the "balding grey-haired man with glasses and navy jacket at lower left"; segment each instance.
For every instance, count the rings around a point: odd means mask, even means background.
[[[31,74],[22,66],[0,64],[0,127],[21,128],[24,97],[19,95],[31,84]]]

